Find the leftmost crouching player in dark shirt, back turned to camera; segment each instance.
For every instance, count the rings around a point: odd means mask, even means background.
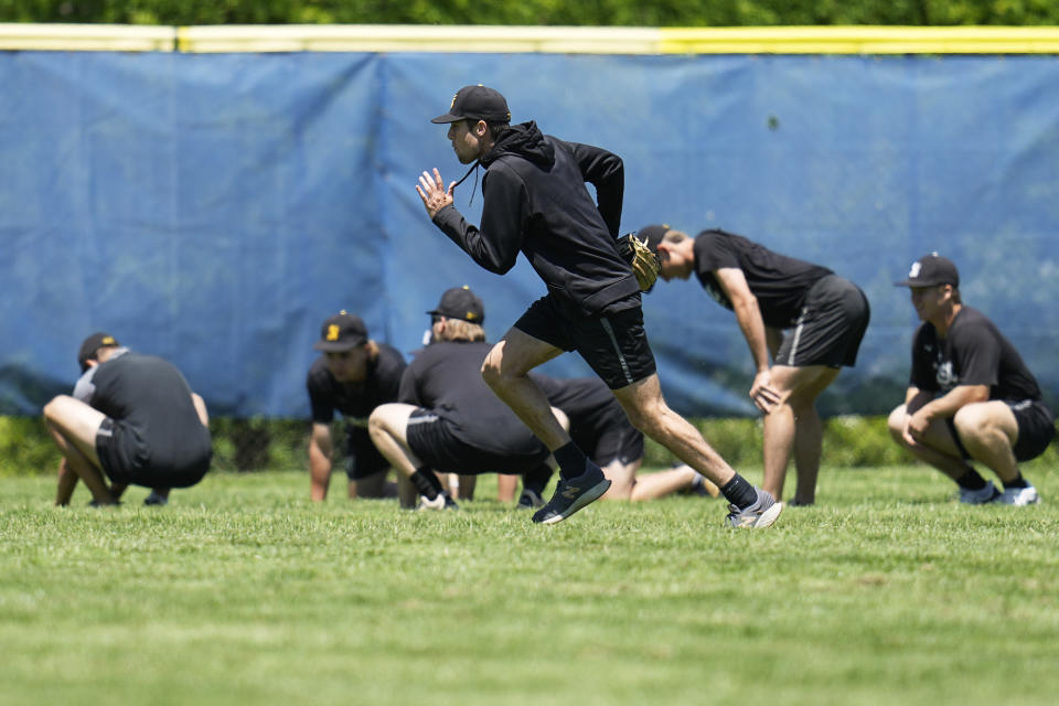
[[[145,502],[164,504],[170,488],[202,480],[213,457],[206,405],[180,371],[107,333],[85,339],[77,362],[74,395],[44,406],[63,453],[56,505],[69,504],[78,479],[96,505],[116,504],[130,484],[156,489]]]

